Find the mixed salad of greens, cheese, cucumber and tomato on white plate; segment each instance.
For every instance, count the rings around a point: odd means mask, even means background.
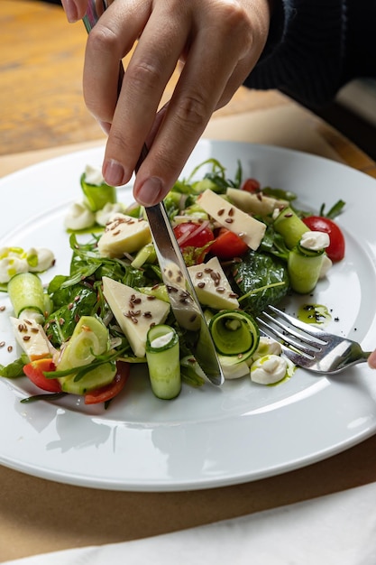
[[[202,165],[210,171],[197,181]],[[344,202],[313,215],[295,208],[289,191],[243,180],[240,163],[234,179],[214,159],[202,165],[175,184],[164,204],[225,378],[282,382],[294,367],[279,343],[260,336],[255,316],[290,292],[312,292],[344,257],[344,236],[333,221]],[[161,280],[142,207],[117,202],[114,187],[92,168],[80,183],[83,199],[65,222],[69,273],[43,287],[35,261],[33,270],[14,273],[14,251],[0,253],[22,351],[0,374],[26,375],[41,389],[28,402],[79,394],[88,404],[108,403],[140,363],[161,399],[179,396],[182,385],[206,384],[193,355],[197,332],[179,328],[170,310],[171,289]]]

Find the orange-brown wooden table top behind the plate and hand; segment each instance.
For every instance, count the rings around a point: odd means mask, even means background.
[[[0,155],[102,139],[82,98],[84,26],[69,25],[60,6],[34,0],[2,0],[0,25]],[[275,91],[240,88],[215,119],[291,106]],[[311,115],[307,126],[344,162],[376,176],[375,163],[333,128]]]

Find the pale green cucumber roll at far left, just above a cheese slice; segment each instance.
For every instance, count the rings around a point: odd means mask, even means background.
[[[8,282],[8,293],[16,318],[23,310],[35,310],[44,316],[45,294],[37,274],[15,274]]]

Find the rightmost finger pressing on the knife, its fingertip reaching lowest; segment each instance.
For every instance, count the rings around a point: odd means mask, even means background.
[[[221,7],[217,20],[211,17],[203,23],[201,18],[170,105],[138,171],[133,194],[144,206],[167,194],[216,107],[234,94],[252,64],[243,63],[252,51],[244,14],[230,3],[222,2]],[[114,154],[111,134],[108,143],[107,155]]]

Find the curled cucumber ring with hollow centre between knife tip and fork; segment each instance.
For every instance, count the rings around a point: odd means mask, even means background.
[[[223,356],[245,361],[256,350],[260,332],[252,316],[239,310],[222,310],[209,323],[216,350]]]

